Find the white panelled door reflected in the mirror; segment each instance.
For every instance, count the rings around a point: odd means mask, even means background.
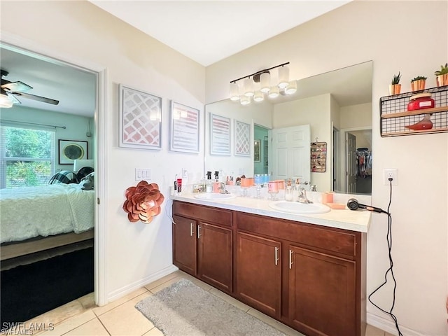
[[[311,132],[309,125],[269,130],[271,180],[300,179],[309,182]]]

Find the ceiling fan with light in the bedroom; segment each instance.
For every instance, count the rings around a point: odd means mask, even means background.
[[[36,96],[36,94],[29,94],[23,92],[25,90],[30,90],[33,87],[21,82],[20,80],[16,82],[10,82],[3,77],[8,76],[8,71],[1,69],[1,85],[0,85],[0,107],[11,107],[13,104],[22,104],[19,99],[15,96],[36,100],[38,102],[48,103],[57,105],[59,100],[45,98],[41,96]]]

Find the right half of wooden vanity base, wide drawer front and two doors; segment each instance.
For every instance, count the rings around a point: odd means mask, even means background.
[[[365,335],[365,234],[242,212],[234,223],[241,301],[305,335]]]

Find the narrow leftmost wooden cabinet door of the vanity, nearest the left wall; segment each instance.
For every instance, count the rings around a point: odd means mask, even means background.
[[[173,216],[173,263],[184,272],[196,274],[196,221]]]

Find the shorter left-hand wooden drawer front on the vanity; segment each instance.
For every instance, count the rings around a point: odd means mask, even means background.
[[[173,214],[195,218],[207,223],[232,226],[232,212],[186,202],[173,202]]]

